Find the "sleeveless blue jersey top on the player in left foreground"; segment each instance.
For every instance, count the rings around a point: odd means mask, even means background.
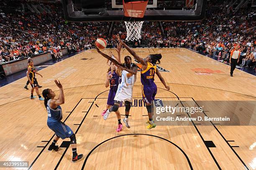
[[[60,106],[58,106],[56,109],[52,109],[50,107],[50,101],[51,99],[48,100],[46,107],[48,113],[47,122],[59,122],[62,119],[62,109]]]

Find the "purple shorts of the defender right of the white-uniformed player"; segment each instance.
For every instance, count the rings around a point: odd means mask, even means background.
[[[151,102],[155,99],[156,92],[156,84],[152,84],[151,86],[142,85],[142,99],[144,103],[151,104]]]

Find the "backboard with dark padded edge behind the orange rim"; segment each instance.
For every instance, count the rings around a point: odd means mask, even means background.
[[[143,18],[125,17],[123,0],[62,0],[62,3],[65,19],[73,22],[192,21],[204,18],[206,1],[149,0]]]

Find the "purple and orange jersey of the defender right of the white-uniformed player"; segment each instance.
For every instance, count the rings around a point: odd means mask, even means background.
[[[154,77],[156,74],[156,66],[147,62],[148,67],[146,70],[141,71],[141,84],[143,86],[152,86],[154,85]]]

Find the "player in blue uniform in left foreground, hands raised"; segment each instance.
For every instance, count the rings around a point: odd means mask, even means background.
[[[62,119],[62,109],[60,107],[61,104],[64,104],[64,91],[63,87],[57,80],[54,80],[56,85],[59,87],[60,95],[59,98],[54,99],[56,94],[51,89],[44,89],[44,105],[47,109],[48,119],[47,126],[55,132],[55,137],[48,150],[58,150],[59,146],[56,145],[56,142],[61,139],[70,138],[70,143],[72,147],[73,157],[72,161],[76,162],[77,160],[83,157],[82,154],[77,154],[77,140],[74,132],[68,127],[66,124],[61,122]]]

